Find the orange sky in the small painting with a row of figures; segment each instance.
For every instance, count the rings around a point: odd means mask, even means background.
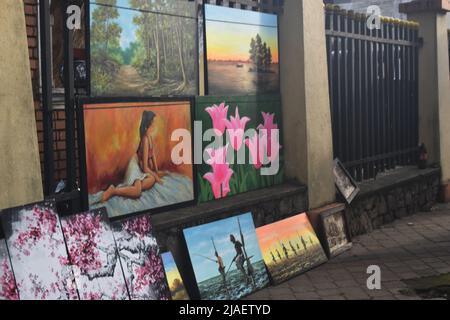
[[[275,248],[278,249],[281,254],[283,254],[280,241],[285,243],[288,249],[288,241],[292,241],[292,244],[295,248],[297,248],[298,243],[301,250],[303,250],[303,245],[300,241],[300,237],[303,237],[308,246],[310,245],[309,237],[311,237],[314,244],[319,244],[319,240],[315,235],[309,219],[305,213],[258,228],[256,233],[258,235],[261,251],[264,255],[264,261],[266,262],[272,261],[270,251],[275,251]],[[275,252],[274,254],[276,257]]]

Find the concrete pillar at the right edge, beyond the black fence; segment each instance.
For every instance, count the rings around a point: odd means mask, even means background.
[[[424,39],[419,52],[419,133],[430,162],[440,163],[442,184],[450,181],[450,79],[446,14],[409,15]]]

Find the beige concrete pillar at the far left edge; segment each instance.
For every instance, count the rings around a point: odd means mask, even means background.
[[[0,1],[0,209],[43,199],[22,1]]]

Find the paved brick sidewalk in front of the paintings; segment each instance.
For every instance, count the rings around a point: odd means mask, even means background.
[[[402,295],[402,280],[450,272],[450,208],[397,220],[353,239],[353,248],[279,286],[259,291],[261,300],[420,299]],[[381,268],[382,290],[367,289],[367,267]]]

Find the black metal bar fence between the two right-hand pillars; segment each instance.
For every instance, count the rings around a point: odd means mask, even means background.
[[[326,6],[333,143],[357,181],[417,162],[418,25]]]

